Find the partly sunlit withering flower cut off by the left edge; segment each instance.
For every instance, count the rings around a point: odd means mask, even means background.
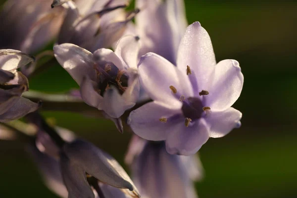
[[[28,79],[17,68],[34,58],[14,49],[0,49],[0,122],[9,122],[35,111],[39,103],[22,98],[28,91]]]

